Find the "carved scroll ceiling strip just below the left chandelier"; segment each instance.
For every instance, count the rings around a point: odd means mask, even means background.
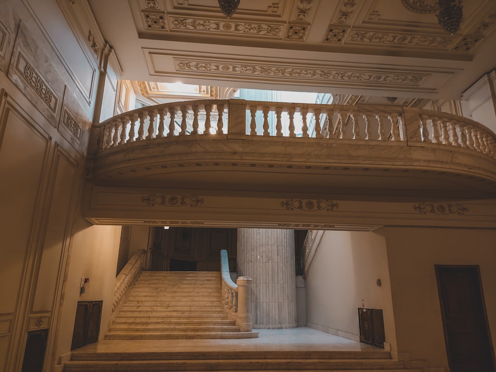
[[[280,25],[256,22],[221,22],[184,17],[172,18],[171,30],[223,32],[228,36],[232,36],[233,34],[249,34],[257,36],[282,37],[282,27]]]

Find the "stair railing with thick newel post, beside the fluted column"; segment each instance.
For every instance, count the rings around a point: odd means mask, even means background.
[[[241,332],[251,332],[253,322],[251,317],[251,278],[240,276],[236,284],[231,279],[227,250],[220,251],[220,266],[222,277],[222,304],[224,312],[231,320],[236,321]]]

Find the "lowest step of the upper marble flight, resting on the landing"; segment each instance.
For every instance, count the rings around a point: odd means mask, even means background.
[[[174,339],[240,339],[255,338],[258,332],[108,332],[106,340],[174,340]]]

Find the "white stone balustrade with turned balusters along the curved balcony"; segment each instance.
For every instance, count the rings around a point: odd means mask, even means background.
[[[496,158],[496,135],[482,124],[437,111],[387,105],[186,101],[117,115],[92,130],[93,155],[116,147],[134,147],[136,142],[202,135],[396,141],[414,146],[422,143],[465,148]]]

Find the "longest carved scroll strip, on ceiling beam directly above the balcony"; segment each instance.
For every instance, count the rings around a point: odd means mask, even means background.
[[[241,62],[210,62],[175,59],[176,71],[189,71],[218,74],[236,74],[247,76],[291,77],[314,80],[372,82],[382,84],[419,85],[427,75],[421,74],[390,74],[385,72],[338,71],[334,69],[318,69],[304,67],[260,66],[254,63]]]

